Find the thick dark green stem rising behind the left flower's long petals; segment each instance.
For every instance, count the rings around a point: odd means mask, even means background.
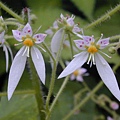
[[[36,74],[36,70],[32,63],[31,58],[29,59],[29,64],[30,64],[30,69],[32,74],[32,85],[35,90],[35,98],[38,105],[39,115],[41,120],[45,120],[45,113],[43,112],[45,111],[45,108],[44,108],[44,102],[43,102],[43,96],[42,96],[42,90],[41,90],[41,83]]]

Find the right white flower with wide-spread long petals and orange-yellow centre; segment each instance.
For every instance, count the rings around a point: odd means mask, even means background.
[[[120,101],[120,90],[115,75],[106,60],[98,53],[103,53],[100,50],[105,48],[109,44],[109,38],[100,39],[97,43],[95,43],[95,39],[93,36],[83,36],[83,40],[75,40],[75,43],[80,50],[83,50],[83,52],[74,56],[75,58],[63,70],[63,72],[59,75],[58,78],[65,77],[73,73],[75,70],[81,67],[88,59],[87,64],[90,63],[90,66],[92,66],[92,64],[96,64],[98,73],[104,84],[108,87],[111,93]]]

